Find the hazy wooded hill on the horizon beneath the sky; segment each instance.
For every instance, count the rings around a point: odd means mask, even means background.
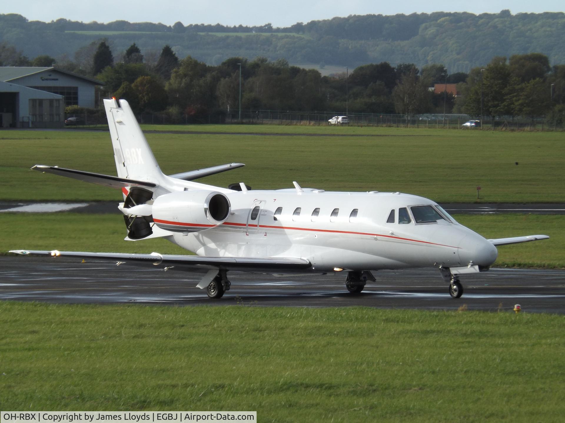
[[[388,61],[392,65],[414,63],[418,67],[442,63],[450,73],[470,72],[494,56],[529,52],[545,54],[551,64],[565,63],[565,14],[447,13],[411,15],[352,15],[297,23],[288,28],[271,24],[256,27],[224,25],[172,26],[160,23],[107,24],[58,19],[45,23],[28,21],[16,14],[0,15],[2,42],[33,58],[50,55],[77,60],[76,52],[93,41],[107,38],[119,56],[132,43],[159,55],[163,45],[172,46],[179,58],[192,56],[218,65],[240,56],[285,58],[291,64],[340,65],[350,68]],[[8,65],[5,63],[5,65]]]

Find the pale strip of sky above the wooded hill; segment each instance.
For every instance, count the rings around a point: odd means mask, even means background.
[[[7,4],[8,3],[8,4]],[[471,12],[473,14],[498,13],[509,9],[512,14],[522,12],[563,12],[563,0],[476,0],[446,2],[403,0],[381,2],[376,0],[122,0],[120,2],[93,2],[77,0],[19,0],[5,2],[0,13],[15,13],[28,20],[51,20],[64,17],[83,22],[108,23],[115,20],[129,22],[154,22],[172,25],[181,21],[189,24],[263,25],[289,27],[297,22],[331,19],[348,15],[395,15],[411,13]]]

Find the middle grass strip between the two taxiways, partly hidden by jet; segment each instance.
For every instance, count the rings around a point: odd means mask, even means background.
[[[459,223],[487,238],[549,235],[551,239],[498,248],[495,266],[565,267],[564,215],[456,215]],[[14,249],[189,254],[163,239],[124,241],[119,214],[2,213],[0,254]]]

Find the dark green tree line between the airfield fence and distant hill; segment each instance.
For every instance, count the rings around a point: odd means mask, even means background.
[[[565,111],[565,65],[552,67],[540,53],[497,56],[470,73],[449,74],[441,63],[420,69],[413,63],[392,66],[383,61],[321,76],[318,70],[261,56],[229,58],[216,66],[191,56],[180,60],[168,45],[151,60],[136,43],[118,59],[106,40],[91,43],[88,51],[89,55],[77,56],[80,63],[67,61],[55,67],[102,81],[103,96],[127,99],[136,113],[166,112],[172,120],[186,115],[194,122],[206,121],[211,113],[238,111],[240,78],[242,109],[404,115],[445,110],[477,118],[550,116],[559,124]],[[14,47],[0,44],[0,60],[10,55],[20,65],[55,62],[47,55],[29,60]],[[457,84],[460,95],[442,92],[445,83]],[[440,92],[431,90],[435,84]]]

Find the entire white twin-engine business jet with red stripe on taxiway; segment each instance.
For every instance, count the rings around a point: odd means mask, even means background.
[[[249,190],[194,179],[236,169],[232,163],[164,175],[125,100],[104,100],[118,177],[37,165],[32,169],[118,188],[124,202],[126,240],[163,237],[196,255],[16,250],[107,259],[122,265],[196,270],[198,288],[220,298],[228,271],[264,274],[345,272],[345,286],[360,293],[371,271],[436,267],[449,293],[459,298],[459,275],[488,270],[498,245],[546,235],[484,239],[460,225],[436,202],[399,192],[325,192],[312,188]]]

